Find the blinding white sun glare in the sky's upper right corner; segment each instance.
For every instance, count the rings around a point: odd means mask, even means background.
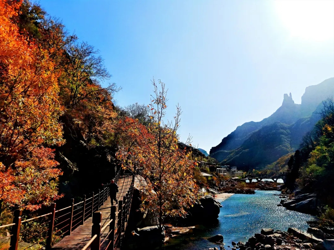
[[[334,38],[334,0],[275,0],[275,10],[292,37]]]

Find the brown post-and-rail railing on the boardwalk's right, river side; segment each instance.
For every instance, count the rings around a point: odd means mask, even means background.
[[[129,218],[133,199],[134,181],[135,176],[132,178],[132,183],[127,194],[123,196],[123,200],[119,201],[117,213],[116,206],[111,206],[110,221],[103,228],[101,228],[102,213],[97,211],[93,214],[92,238],[81,250],[86,250],[89,246],[91,250],[108,250],[122,247],[122,233],[125,232]],[[104,236],[104,239],[102,239],[101,236],[108,225],[110,225],[109,232]],[[107,237],[108,245],[104,246],[103,243],[107,240]]]

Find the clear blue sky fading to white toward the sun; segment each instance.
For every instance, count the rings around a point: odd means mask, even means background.
[[[168,117],[209,152],[248,121],[295,103],[334,76],[334,1],[41,0],[70,32],[100,50],[123,89],[117,104],[148,104],[168,87]],[[333,25],[332,25],[333,24]],[[167,118],[168,118],[167,117]]]

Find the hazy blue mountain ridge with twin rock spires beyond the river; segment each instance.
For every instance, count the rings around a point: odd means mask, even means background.
[[[319,121],[322,102],[334,94],[334,77],[309,86],[296,104],[284,94],[282,106],[260,122],[246,122],[210,150],[210,157],[239,169],[261,169],[298,149]]]

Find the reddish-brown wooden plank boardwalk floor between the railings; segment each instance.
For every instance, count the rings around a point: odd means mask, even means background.
[[[117,193],[117,200],[123,200],[123,196],[126,195],[128,192],[132,182],[132,176],[121,176],[120,179],[117,182],[117,185],[119,186],[119,192]],[[114,202],[114,205],[115,202]],[[104,227],[106,223],[110,220],[110,210],[111,210],[111,201],[110,197],[108,197],[108,200],[104,202],[104,205],[102,205],[99,209],[100,212],[102,212],[102,222],[101,225]],[[118,211],[118,205],[116,205],[116,211]],[[117,228],[117,222],[118,222],[118,212],[116,212],[116,228]],[[58,243],[54,244],[52,246],[52,249],[55,250],[81,250],[91,239],[92,237],[92,217],[89,217],[85,223],[81,226],[78,226],[76,229],[74,229],[70,235],[65,236],[62,238]],[[105,232],[101,235],[101,238],[104,239],[106,235],[108,234],[108,230],[105,230]],[[101,248],[104,249],[104,245],[108,245],[108,239],[102,244]],[[88,248],[90,249],[90,247]]]

